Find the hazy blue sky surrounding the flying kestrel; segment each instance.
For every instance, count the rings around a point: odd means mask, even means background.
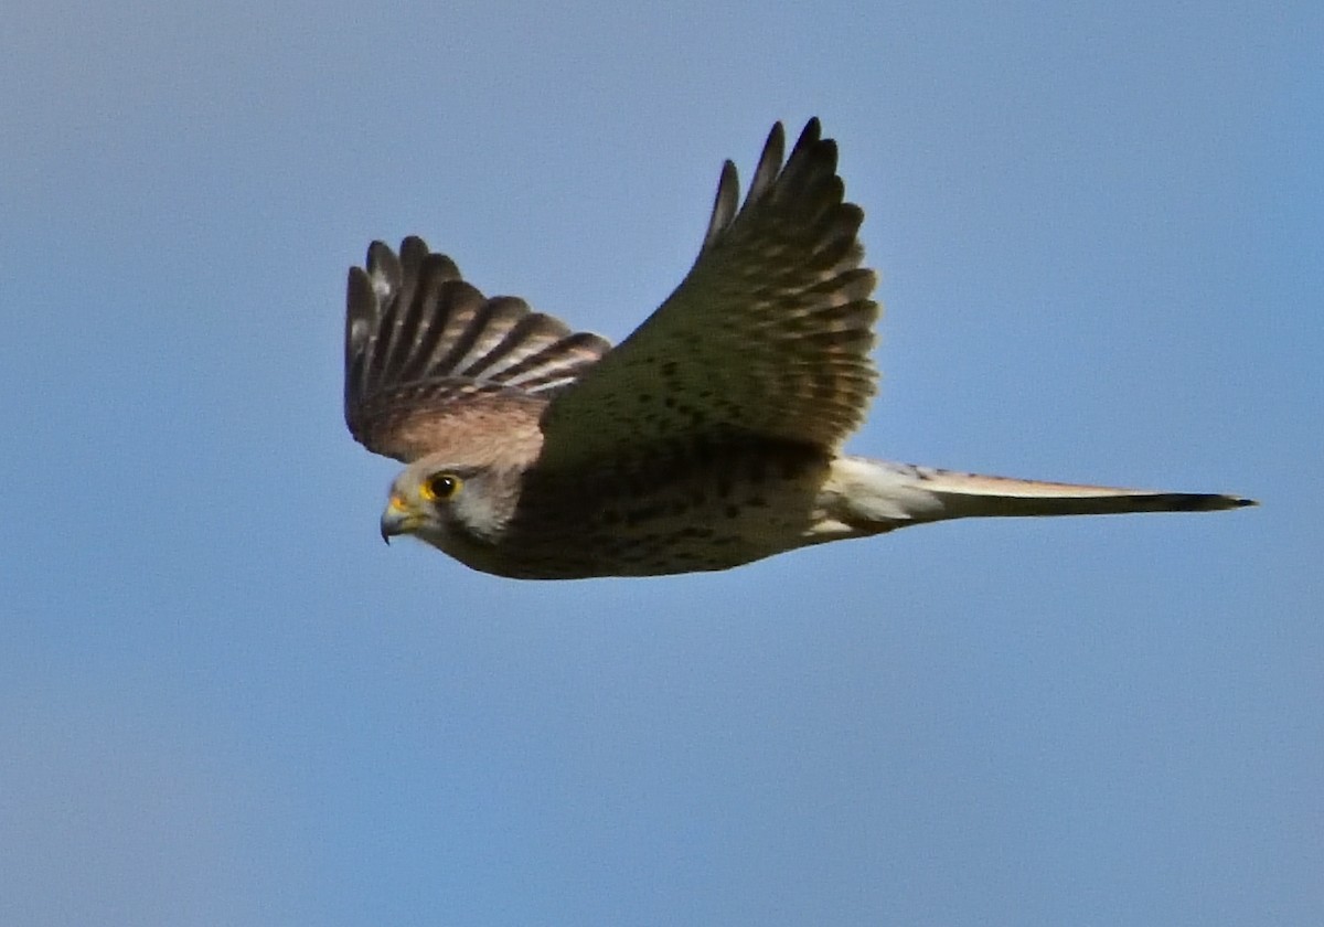
[[[0,923],[1324,923],[1320,11],[8,11]],[[368,241],[618,339],[810,115],[887,307],[853,452],[1263,506],[384,547]]]

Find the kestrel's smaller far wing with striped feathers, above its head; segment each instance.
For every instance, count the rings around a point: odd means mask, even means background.
[[[610,347],[523,299],[485,298],[421,238],[399,257],[375,241],[367,265],[346,295],[344,420],[379,454],[426,454],[479,397],[542,407]]]

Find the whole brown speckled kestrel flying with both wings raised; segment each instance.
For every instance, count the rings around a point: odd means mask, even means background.
[[[744,203],[726,163],[694,266],[614,348],[420,238],[375,241],[350,269],[344,416],[406,465],[383,538],[518,579],[655,576],[951,518],[1254,505],[843,454],[878,379],[863,211],[817,119],[784,155],[777,123]]]

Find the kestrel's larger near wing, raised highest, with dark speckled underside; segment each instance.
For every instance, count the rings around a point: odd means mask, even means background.
[[[867,411],[875,277],[837,144],[805,126],[782,167],[773,126],[740,205],[727,162],[703,248],[675,293],[552,399],[542,462],[572,467],[650,442],[751,436],[835,449]]]

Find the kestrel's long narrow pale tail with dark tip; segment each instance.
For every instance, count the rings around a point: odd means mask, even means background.
[[[833,461],[825,497],[830,518],[866,532],[949,518],[1218,511],[1256,505],[1235,495],[1046,483],[861,457]]]

